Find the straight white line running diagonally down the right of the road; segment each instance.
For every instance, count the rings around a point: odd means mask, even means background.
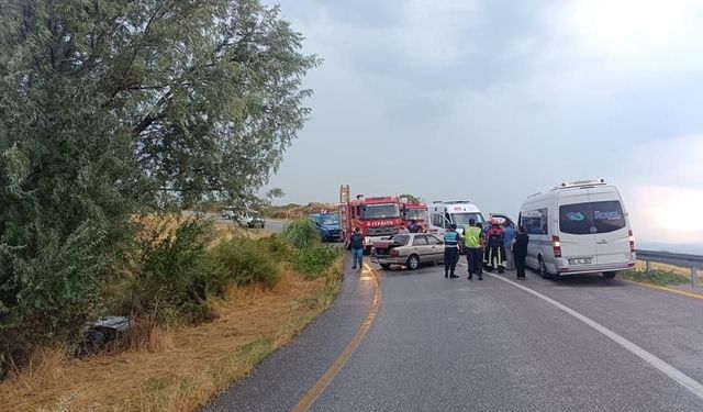
[[[461,265],[464,266],[464,265]],[[498,275],[493,275],[493,274],[489,274],[489,272],[483,272],[483,275],[488,275],[491,276],[495,279],[502,280],[506,283],[510,283],[512,286],[514,286],[515,288],[522,289],[524,291],[526,291],[527,293],[531,293],[542,300],[544,300],[545,302],[560,309],[561,311],[570,314],[571,316],[578,319],[579,321],[585,323],[587,325],[591,326],[592,329],[596,330],[598,332],[602,333],[603,335],[607,336],[611,341],[615,342],[616,344],[621,345],[622,347],[624,347],[625,349],[629,350],[631,353],[633,353],[634,355],[637,355],[639,358],[641,358],[644,361],[646,361],[647,364],[649,364],[650,366],[652,366],[654,368],[658,369],[660,372],[665,374],[666,376],[668,376],[669,378],[676,380],[679,385],[681,385],[682,387],[684,387],[685,389],[688,389],[689,391],[691,391],[693,394],[695,394],[699,399],[703,400],[703,385],[699,383],[698,381],[695,381],[694,379],[690,378],[688,375],[683,374],[682,371],[680,371],[679,369],[674,368],[673,366],[667,364],[666,361],[659,359],[658,357],[656,357],[655,355],[650,354],[649,352],[643,349],[640,346],[634,344],[633,342],[628,341],[627,338],[618,335],[617,333],[609,330],[607,327],[601,325],[600,323],[591,320],[590,318],[587,318],[584,315],[582,315],[581,313],[574,311],[573,309],[557,302],[556,300],[546,297],[533,289],[529,289],[525,286],[522,286],[517,282],[514,282],[510,279],[505,279],[502,276],[498,276]]]

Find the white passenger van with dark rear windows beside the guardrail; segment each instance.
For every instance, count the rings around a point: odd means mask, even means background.
[[[635,242],[617,188],[605,180],[563,182],[527,198],[518,224],[529,235],[526,265],[547,278],[635,267]]]

